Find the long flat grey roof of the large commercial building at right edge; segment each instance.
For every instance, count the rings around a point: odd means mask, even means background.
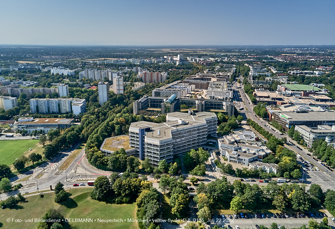
[[[335,112],[275,112],[284,119],[289,121],[335,121]]]

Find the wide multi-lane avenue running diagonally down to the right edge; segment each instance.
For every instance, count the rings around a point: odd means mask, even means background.
[[[237,86],[239,87],[240,85],[237,85]],[[315,171],[315,170],[311,171],[309,167],[306,168],[308,169],[308,171],[304,171],[303,169],[301,169],[301,172],[304,175],[304,179],[306,179],[308,183],[320,184],[324,191],[329,188],[335,190],[335,172],[328,170],[326,167],[322,166],[317,161],[315,161],[312,157],[313,155],[312,156],[308,155],[308,154],[311,154],[308,150],[306,150],[304,147],[300,147],[299,144],[296,143],[293,139],[290,139],[290,137],[287,134],[280,135],[281,133],[279,132],[279,130],[276,130],[272,126],[270,126],[272,129],[270,129],[269,124],[268,126],[264,125],[265,123],[267,123],[266,121],[264,121],[262,118],[259,118],[259,119],[256,118],[253,113],[254,105],[250,101],[249,96],[244,93],[243,88],[244,88],[244,85],[242,85],[242,88],[236,88],[235,86],[233,86],[232,88],[232,89],[235,89],[234,96],[236,96],[236,101],[237,101],[236,107],[240,108],[241,106],[243,106],[243,107],[247,107],[248,109],[246,110],[244,108],[243,110],[240,110],[242,115],[246,118],[252,119],[254,122],[256,122],[258,125],[263,127],[265,130],[269,131],[271,134],[273,134],[277,138],[285,137],[288,141],[287,141],[287,144],[284,145],[284,147],[295,151],[298,155],[300,155],[304,159],[304,161],[310,161],[314,165],[314,167],[318,167],[320,169],[320,171]],[[305,163],[302,163],[300,160],[298,160],[298,163],[302,165],[303,167],[306,167]]]

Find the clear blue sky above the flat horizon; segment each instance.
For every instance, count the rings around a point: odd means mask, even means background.
[[[335,0],[2,1],[0,44],[335,45]]]

